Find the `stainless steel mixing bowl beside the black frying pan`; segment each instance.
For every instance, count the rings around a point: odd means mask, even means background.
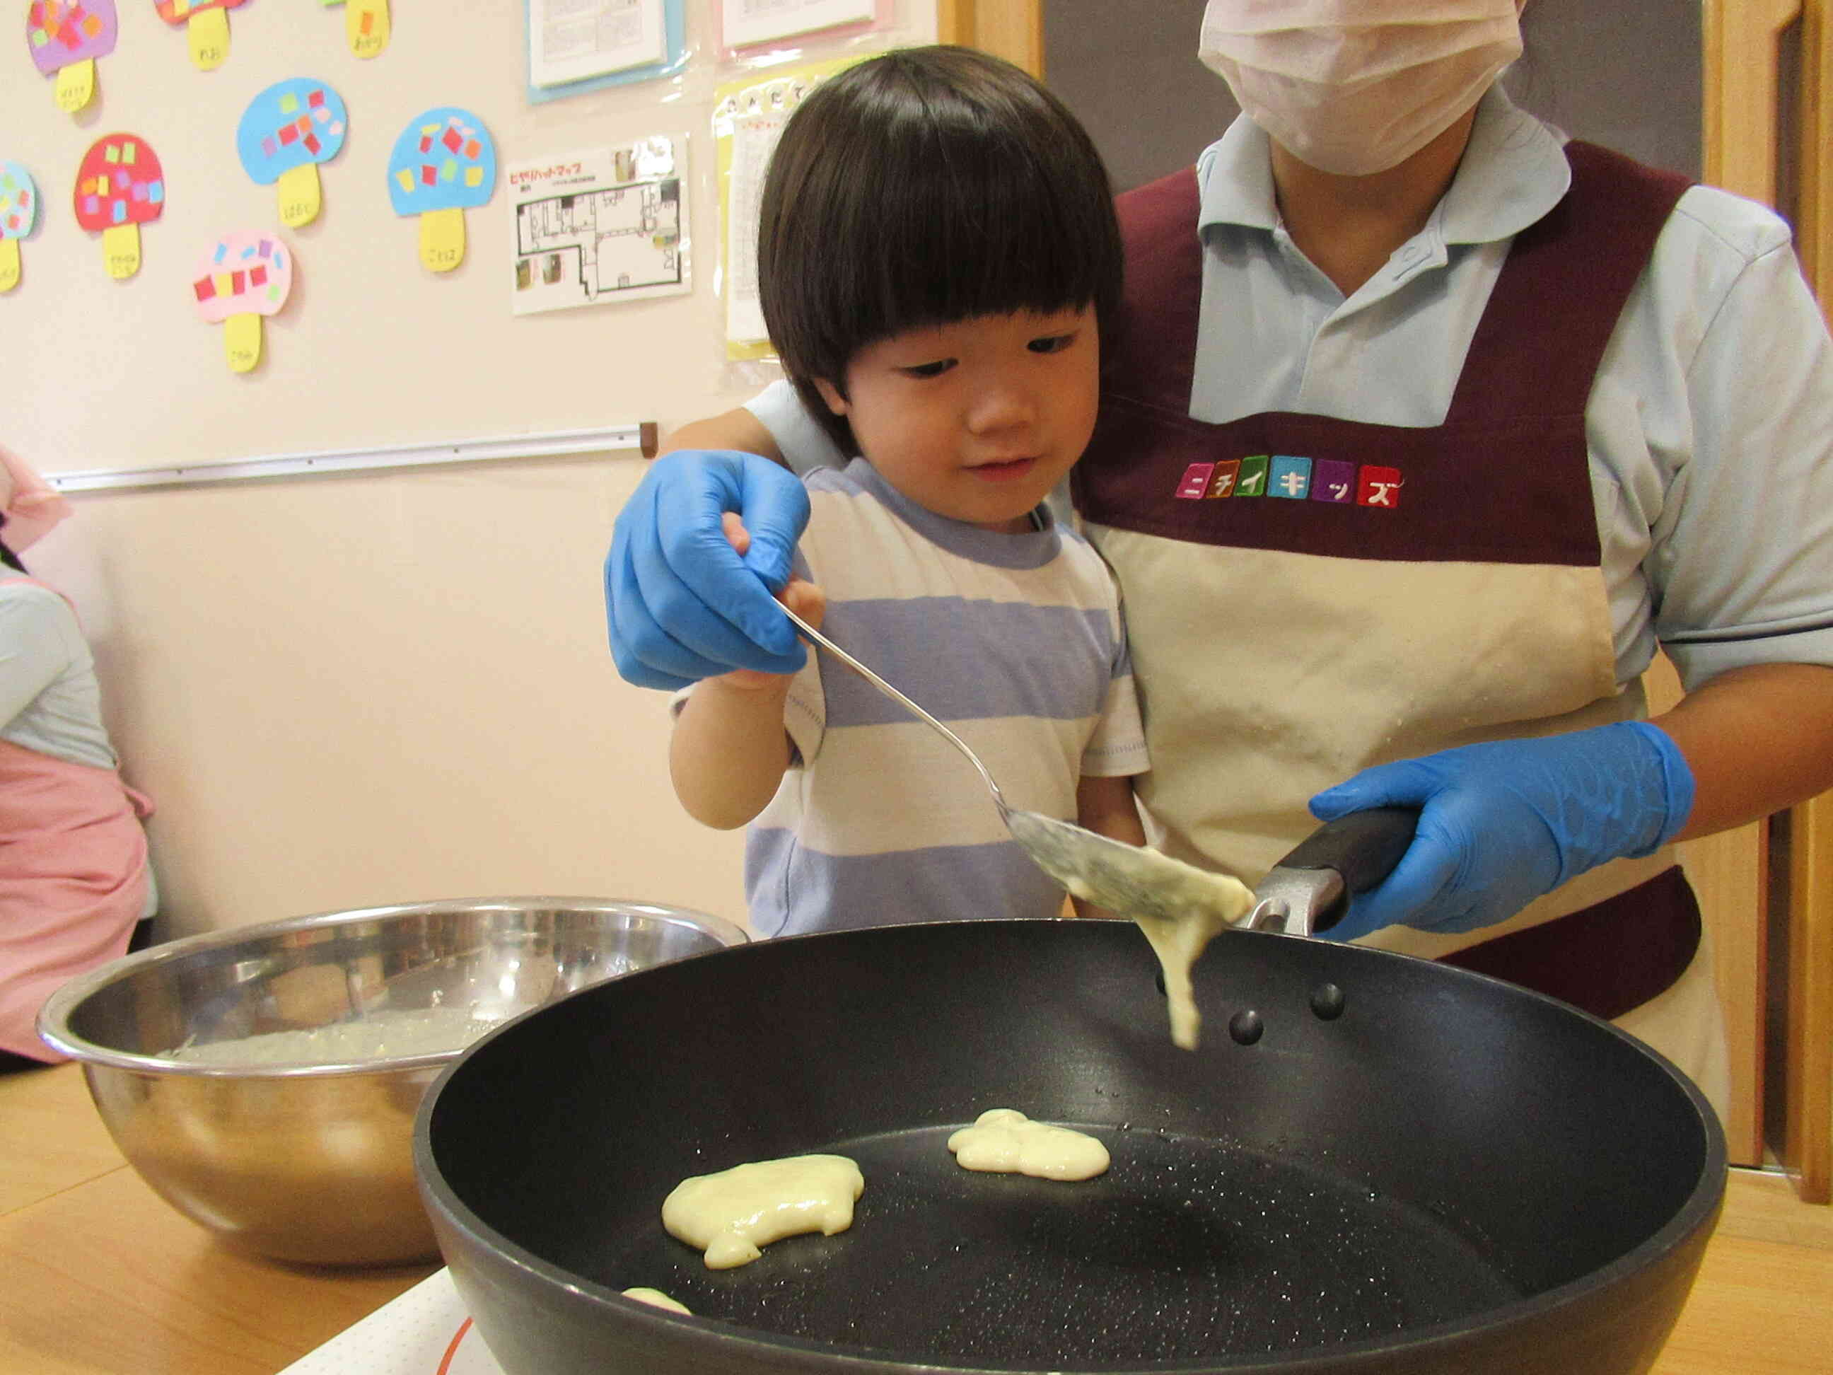
[[[51,996],[38,1034],[82,1062],[141,1177],[225,1245],[313,1265],[403,1263],[438,1254],[414,1184],[414,1111],[460,1049],[279,1063],[170,1052],[378,1014],[385,1030],[433,1008],[500,1021],[742,940],[719,917],[605,898],[317,913],[104,964]]]

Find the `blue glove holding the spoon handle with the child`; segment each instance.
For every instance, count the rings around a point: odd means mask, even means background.
[[[720,526],[724,512],[739,512],[752,534],[742,559]],[[796,673],[807,649],[775,594],[807,524],[801,478],[768,458],[724,449],[656,458],[605,557],[618,673],[665,689],[731,669]]]

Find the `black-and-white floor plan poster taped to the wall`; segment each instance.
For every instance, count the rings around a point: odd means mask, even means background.
[[[687,136],[510,169],[513,312],[680,295],[687,279]]]

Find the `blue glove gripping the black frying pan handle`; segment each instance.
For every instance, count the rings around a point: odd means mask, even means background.
[[[1377,764],[1311,799],[1320,821],[1366,807],[1419,807],[1413,845],[1386,882],[1325,931],[1382,926],[1474,931],[1606,860],[1668,843],[1694,807],[1694,776],[1642,720],[1444,750]]]

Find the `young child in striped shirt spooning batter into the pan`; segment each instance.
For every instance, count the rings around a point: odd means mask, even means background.
[[[785,126],[757,266],[786,376],[858,455],[808,475],[783,601],[946,720],[1010,805],[1142,843],[1118,588],[1045,504],[1094,427],[1120,295],[1089,136],[984,53],[860,62]],[[742,554],[737,517],[726,530]],[[752,823],[759,933],[1061,913],[975,770],[819,653],[676,706],[682,803]]]

